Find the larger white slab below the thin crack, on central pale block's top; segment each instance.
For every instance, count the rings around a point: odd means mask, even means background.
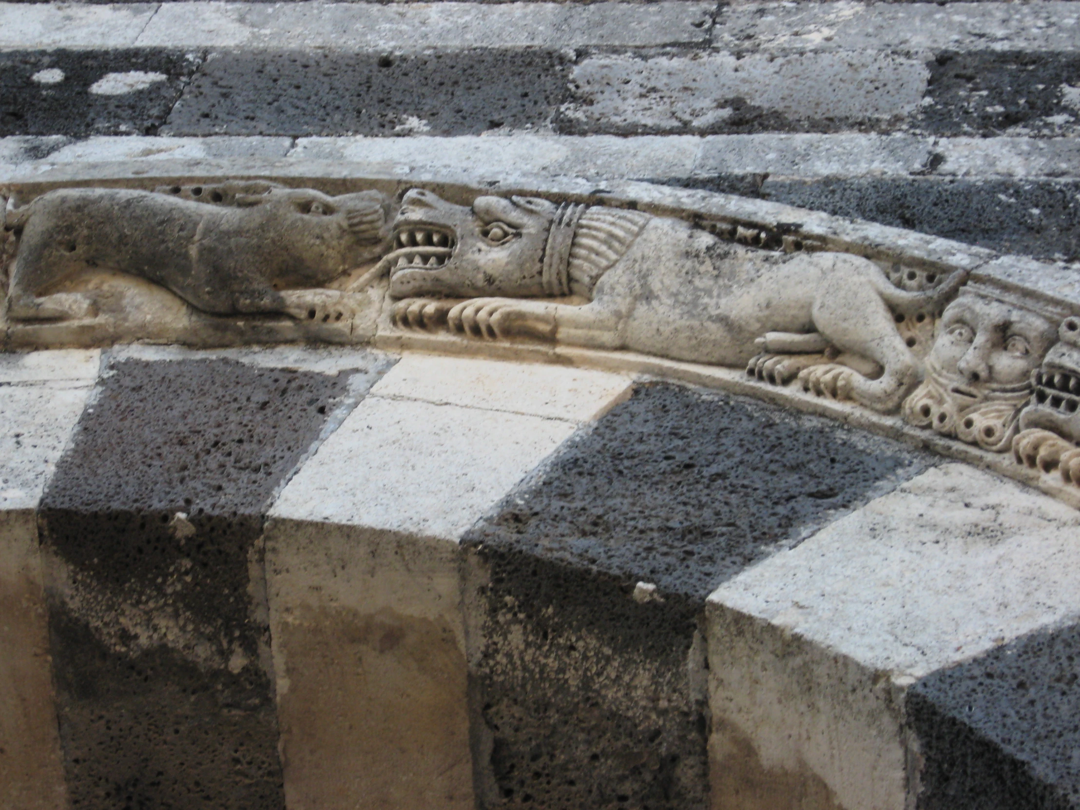
[[[271,514],[457,540],[575,427],[368,396],[289,482]]]

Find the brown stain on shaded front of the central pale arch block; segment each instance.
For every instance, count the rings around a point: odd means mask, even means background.
[[[289,807],[473,807],[465,660],[448,621],[303,605],[273,644]]]

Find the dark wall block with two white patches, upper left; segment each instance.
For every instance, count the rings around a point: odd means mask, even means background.
[[[201,56],[183,51],[9,51],[0,53],[0,136],[156,135]],[[32,76],[64,71],[55,84]],[[95,95],[107,73],[140,71],[166,79],[120,95]]]

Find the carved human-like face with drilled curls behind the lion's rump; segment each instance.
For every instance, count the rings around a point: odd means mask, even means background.
[[[984,449],[1008,450],[1055,321],[1029,303],[969,285],[942,315],[927,379],[904,402],[904,419]]]

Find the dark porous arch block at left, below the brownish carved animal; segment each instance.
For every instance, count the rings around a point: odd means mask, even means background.
[[[347,377],[110,370],[40,518],[72,806],[283,807],[262,512]]]

